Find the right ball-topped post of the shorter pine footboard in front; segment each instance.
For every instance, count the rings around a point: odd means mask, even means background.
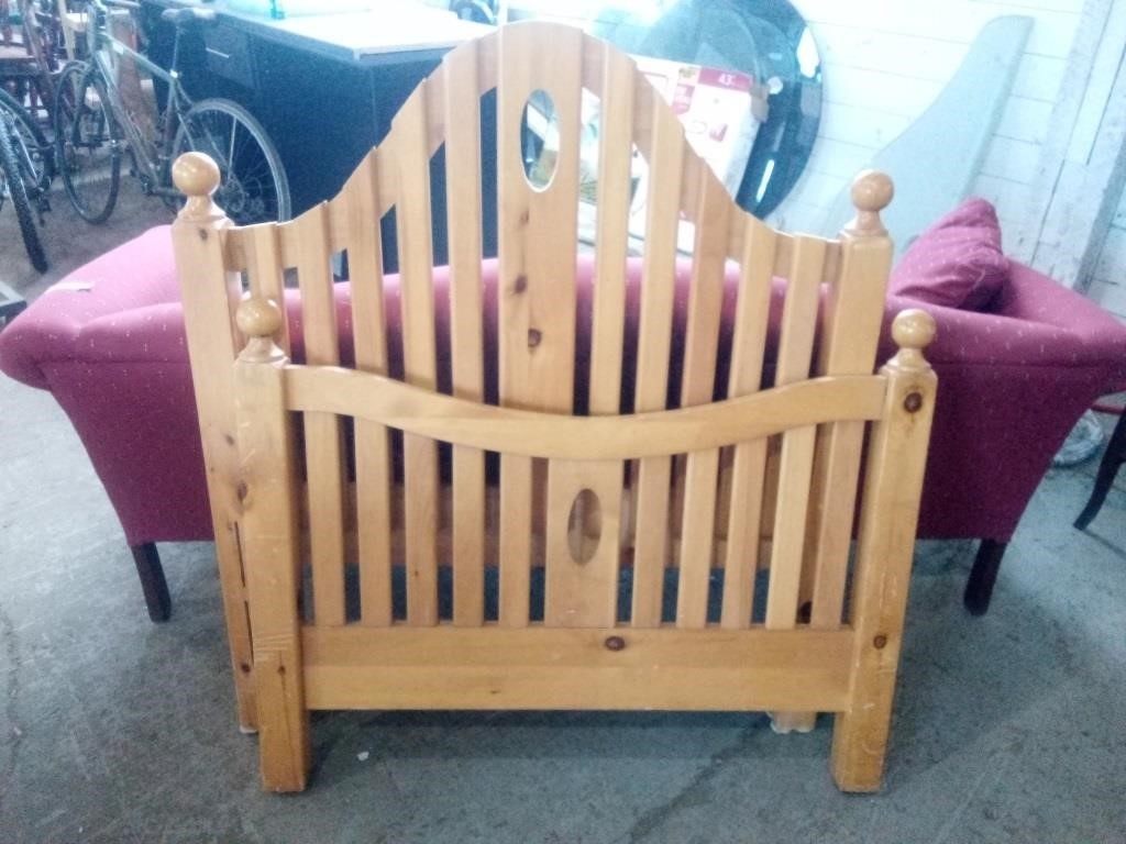
[[[937,378],[922,353],[935,320],[904,311],[892,336],[899,353],[881,369],[887,394],[869,443],[854,575],[851,701],[833,729],[833,778],[842,791],[876,791],[883,779],[935,407]]]

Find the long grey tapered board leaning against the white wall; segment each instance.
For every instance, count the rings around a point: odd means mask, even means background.
[[[868,163],[895,182],[895,199],[881,216],[896,258],[973,188],[1031,28],[1033,19],[1020,15],[989,21],[935,101]],[[851,216],[844,188],[821,234],[837,236]]]

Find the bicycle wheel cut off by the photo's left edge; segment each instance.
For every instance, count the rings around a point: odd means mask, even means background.
[[[53,178],[52,145],[27,109],[0,89],[0,207],[11,200],[27,257],[39,272],[47,269],[47,255],[37,226],[50,210],[47,189]]]

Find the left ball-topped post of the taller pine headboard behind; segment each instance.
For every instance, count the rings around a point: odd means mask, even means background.
[[[242,288],[238,273],[227,272],[223,261],[221,233],[232,224],[212,200],[218,187],[218,167],[207,155],[189,152],[177,159],[172,167],[172,180],[188,197],[172,224],[172,244],[180,277],[191,371],[208,374],[206,379],[193,378],[193,381],[239,725],[244,733],[253,733],[258,716],[251,676],[242,551],[236,527],[240,508],[235,495],[238,454],[234,443],[233,366],[239,347],[231,318]]]

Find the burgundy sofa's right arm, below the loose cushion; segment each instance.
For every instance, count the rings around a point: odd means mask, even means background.
[[[1075,420],[1120,388],[1126,326],[1080,294],[1012,264],[993,313],[888,297],[891,320],[923,307],[938,374],[919,536],[1007,541]]]

